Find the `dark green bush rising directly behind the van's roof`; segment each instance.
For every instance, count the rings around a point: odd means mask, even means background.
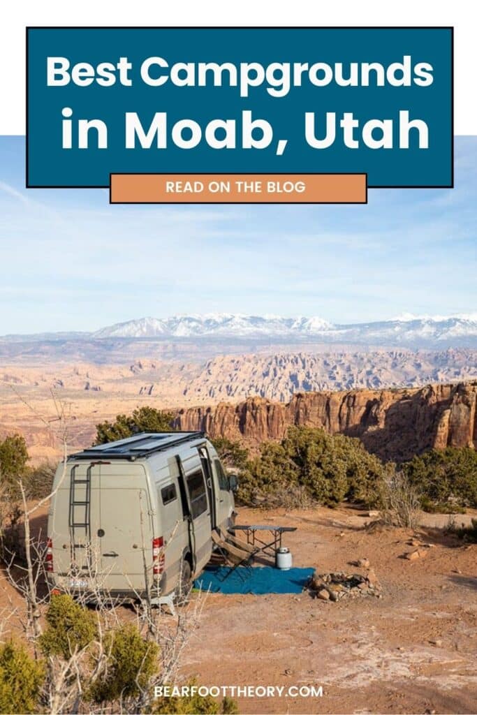
[[[174,415],[152,407],[141,407],[132,415],[117,415],[114,422],[96,425],[94,444],[102,445],[114,440],[123,440],[139,432],[171,432]]]

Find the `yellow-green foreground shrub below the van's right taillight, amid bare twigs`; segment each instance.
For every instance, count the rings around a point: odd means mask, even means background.
[[[107,669],[92,686],[91,698],[98,703],[114,701],[147,688],[159,666],[157,644],[144,640],[136,626],[128,623],[107,633],[105,646]]]

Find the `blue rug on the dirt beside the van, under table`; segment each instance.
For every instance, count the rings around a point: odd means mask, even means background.
[[[227,576],[227,566],[207,568],[194,581],[195,588],[212,593],[301,593],[314,568],[290,568],[281,571],[273,566],[245,568],[239,566]],[[225,581],[222,581],[222,578]]]

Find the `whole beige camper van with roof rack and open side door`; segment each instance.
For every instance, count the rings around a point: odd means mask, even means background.
[[[46,572],[69,592],[167,596],[235,520],[235,478],[201,432],[141,433],[69,456],[54,479]]]

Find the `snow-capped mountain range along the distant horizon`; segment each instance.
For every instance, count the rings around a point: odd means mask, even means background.
[[[321,317],[280,317],[209,313],[145,317],[117,323],[90,338],[267,339],[330,344],[408,347],[477,347],[477,313],[468,315],[410,315],[380,322],[335,324]]]

